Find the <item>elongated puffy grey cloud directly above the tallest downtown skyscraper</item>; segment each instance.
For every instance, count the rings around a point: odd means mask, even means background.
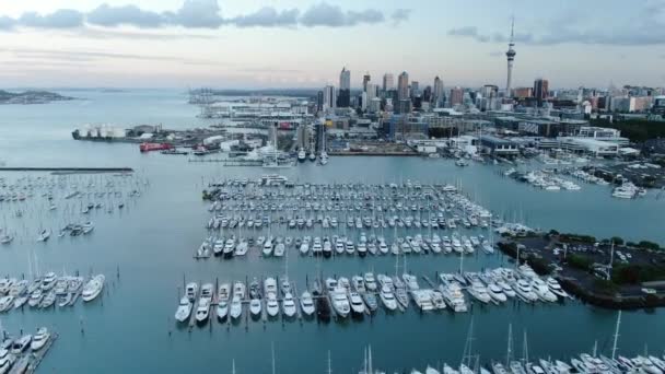
[[[307,27],[316,26],[355,26],[361,23],[380,23],[385,21],[382,12],[368,9],[361,12],[342,11],[338,5],[330,5],[325,2],[312,5],[300,19],[300,22]]]

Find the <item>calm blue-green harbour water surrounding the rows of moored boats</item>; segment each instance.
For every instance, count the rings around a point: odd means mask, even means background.
[[[0,248],[0,273],[27,273],[27,254],[33,250],[43,270],[104,272],[107,288],[90,305],[73,308],[11,312],[0,315],[11,332],[46,325],[60,332],[58,343],[43,363],[45,372],[231,372],[234,359],[238,373],[269,373],[270,346],[275,344],[280,373],[325,371],[327,352],[337,373],[352,373],[362,365],[363,347],[372,344],[375,363],[389,370],[427,363],[458,363],[474,316],[475,348],[483,361],[505,354],[508,325],[513,324],[515,351],[522,352],[522,334],[528,334],[529,355],[568,357],[591,350],[595,340],[609,349],[616,314],[576,302],[564,305],[504,305],[476,307],[472,314],[450,313],[386,315],[380,312],[364,322],[317,324],[314,322],[243,322],[238,326],[217,322],[191,332],[175,326],[173,314],[183,277],[188,281],[231,281],[245,277],[282,274],[284,260],[245,259],[222,261],[191,258],[206,235],[207,204],[200,200],[203,180],[211,177],[254,178],[261,168],[222,167],[188,163],[185,156],[140,154],[136,145],[75,142],[71,130],[82,124],[138,125],[162,122],[167,128],[206,125],[195,117],[198,109],[186,104],[184,91],[128,91],[101,93],[62,92],[83,101],[40,106],[0,106],[0,160],[8,165],[130,166],[150,179],[148,191],[119,213],[94,213],[90,236],[34,243],[18,237]],[[505,218],[528,225],[584,232],[598,237],[620,235],[665,244],[662,230],[663,200],[654,195],[633,201],[616,200],[605,187],[583,185],[581,191],[544,192],[498,176],[497,167],[471,164],[460,170],[443,160],[389,157],[334,157],[325,167],[306,163],[280,171],[292,179],[307,182],[458,183],[474,199]],[[4,174],[14,178],[16,174]],[[0,206],[0,214],[11,209]],[[10,219],[14,220],[14,219]],[[48,225],[46,212],[27,208],[24,222],[15,226]],[[52,226],[59,225],[54,222]],[[265,233],[264,233],[265,234]],[[310,234],[310,233],[307,233]],[[505,264],[501,256],[465,260],[465,268]],[[351,276],[374,269],[393,272],[393,257],[339,258],[317,261],[290,256],[289,274],[300,287],[320,267],[324,274]],[[411,257],[410,271],[433,277],[434,271],[458,267],[454,256]],[[116,273],[119,269],[119,278]],[[649,344],[663,351],[663,311],[623,314],[620,348],[633,353]],[[397,354],[396,354],[397,353]],[[521,353],[518,353],[521,354]],[[481,359],[482,360],[482,359]]]

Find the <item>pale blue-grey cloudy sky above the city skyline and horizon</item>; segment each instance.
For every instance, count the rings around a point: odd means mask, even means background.
[[[665,86],[665,0],[2,0],[1,87]]]

